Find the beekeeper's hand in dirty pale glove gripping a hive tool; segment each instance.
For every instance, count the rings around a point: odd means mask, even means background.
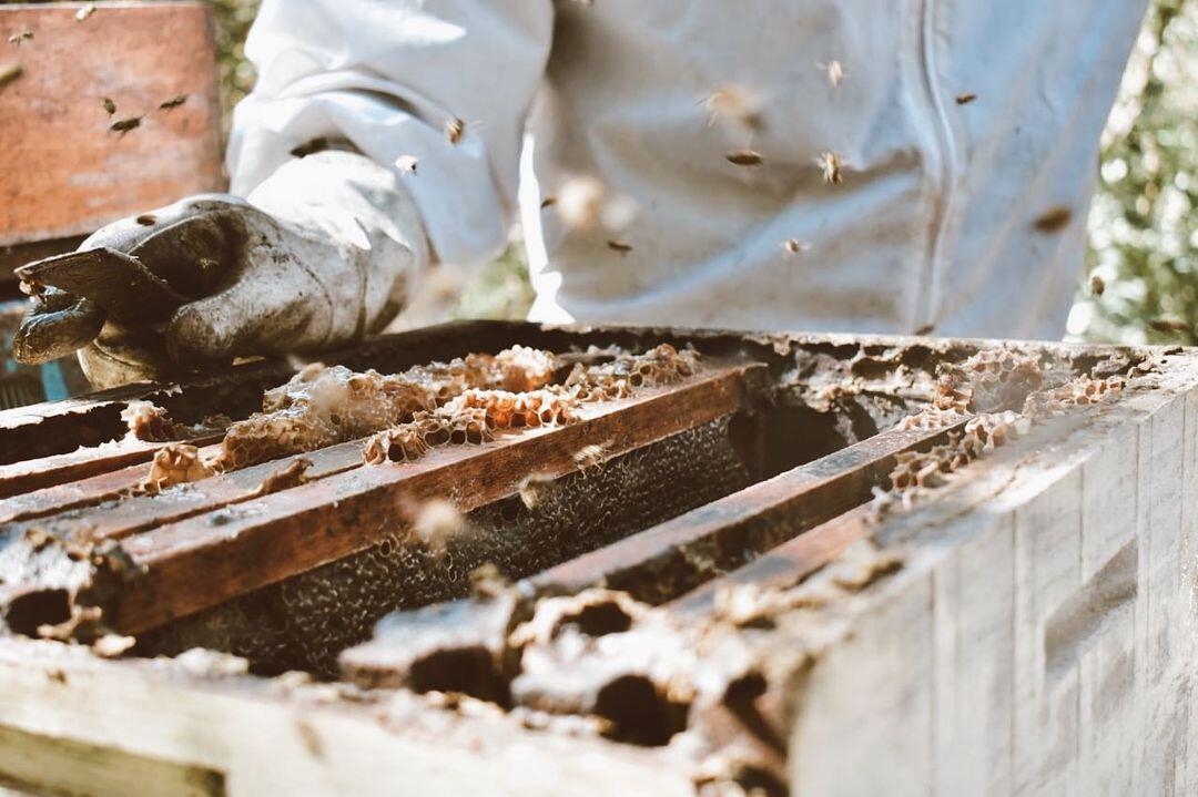
[[[18,269],[37,303],[14,348],[25,360],[60,355],[71,335],[55,337],[54,323],[89,335],[102,320],[79,359],[105,388],[377,331],[425,249],[394,172],[321,152],[280,168],[249,201],[193,196],[105,226],[79,253]]]

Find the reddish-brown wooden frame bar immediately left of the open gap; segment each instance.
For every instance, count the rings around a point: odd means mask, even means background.
[[[515,494],[531,473],[577,471],[575,454],[595,440],[612,440],[607,455],[616,456],[728,415],[742,408],[743,382],[758,369],[709,367],[677,385],[585,407],[569,426],[358,468],[243,504],[220,523],[199,516],[128,537],[122,544],[141,572],[115,596],[105,621],[139,633],[362,550],[407,528],[412,500],[449,497],[466,512]]]

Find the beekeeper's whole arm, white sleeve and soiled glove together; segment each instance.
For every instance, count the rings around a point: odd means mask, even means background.
[[[246,44],[258,84],[234,115],[234,196],[84,244],[152,272],[217,269],[216,291],[151,334],[109,318],[81,353],[92,381],[350,342],[395,315],[432,258],[497,254],[551,32],[550,0],[266,0]]]

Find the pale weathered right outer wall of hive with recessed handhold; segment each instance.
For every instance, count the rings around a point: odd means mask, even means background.
[[[1198,793],[1198,354],[1167,363],[877,530],[907,566],[795,695],[793,793]]]

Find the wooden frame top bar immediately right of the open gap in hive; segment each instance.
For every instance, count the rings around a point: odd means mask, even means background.
[[[563,562],[530,583],[545,592],[605,585],[651,603],[668,601],[869,500],[871,486],[894,467],[895,454],[930,448],[964,424],[883,432]]]

